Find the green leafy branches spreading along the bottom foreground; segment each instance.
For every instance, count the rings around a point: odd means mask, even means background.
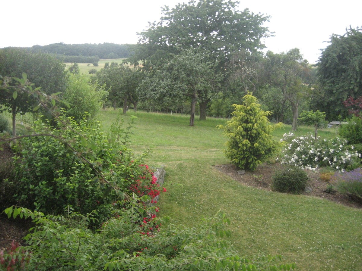
[[[230,237],[223,212],[205,219],[196,228],[170,224],[153,236],[142,235],[136,201],[118,218],[97,232],[87,228],[88,216],[44,215],[22,207],[9,207],[10,217],[32,218],[36,223],[26,236],[28,246],[17,258],[29,261],[26,270],[291,270],[294,264],[278,264],[281,257],[238,256],[223,237]],[[167,223],[169,218],[158,219]],[[142,220],[141,220],[142,221]],[[140,222],[140,221],[138,221]],[[9,255],[5,254],[3,259]],[[30,259],[29,259],[30,258]]]

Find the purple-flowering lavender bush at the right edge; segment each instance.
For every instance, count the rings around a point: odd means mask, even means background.
[[[330,182],[336,186],[338,192],[354,198],[355,201],[362,202],[361,168],[349,172],[336,172]]]

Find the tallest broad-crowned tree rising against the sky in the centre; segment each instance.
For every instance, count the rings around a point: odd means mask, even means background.
[[[154,70],[167,63],[171,54],[193,48],[216,61],[215,73],[225,72],[226,63],[240,51],[254,52],[265,46],[261,43],[268,36],[263,25],[268,16],[254,14],[248,9],[237,10],[239,2],[201,0],[182,3],[175,8],[163,8],[159,22],[150,23],[139,33],[139,46],[132,62],[143,61],[143,68]],[[200,118],[206,116],[209,99],[200,100]]]

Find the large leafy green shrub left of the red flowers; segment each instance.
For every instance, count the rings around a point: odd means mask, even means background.
[[[18,205],[33,209],[35,204],[35,210],[46,214],[62,214],[68,205],[81,214],[98,210],[101,223],[114,214],[113,203],[119,200],[120,193],[129,191],[135,176],[144,175],[144,169],[122,145],[127,138],[118,142],[116,148],[109,145],[98,122],[61,119],[68,126],[58,122],[58,127],[47,131],[54,137],[17,141],[14,177],[10,182],[15,191],[11,194]],[[45,131],[43,123],[36,121],[34,132]],[[114,129],[110,136],[117,137],[118,132],[127,133],[128,137],[129,129]],[[100,172],[104,180],[100,180]]]

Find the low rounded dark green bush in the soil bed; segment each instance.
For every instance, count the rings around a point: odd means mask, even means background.
[[[303,169],[289,167],[273,176],[272,188],[278,192],[299,194],[304,191],[308,181]]]

